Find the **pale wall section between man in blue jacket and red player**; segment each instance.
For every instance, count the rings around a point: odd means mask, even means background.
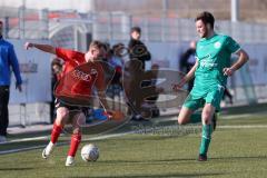
[[[51,101],[51,55],[37,49],[24,50],[23,40],[9,40],[14,46],[14,51],[20,65],[22,78],[22,92],[16,90],[14,75],[10,86],[10,103],[30,103]],[[37,43],[49,43],[44,40]]]

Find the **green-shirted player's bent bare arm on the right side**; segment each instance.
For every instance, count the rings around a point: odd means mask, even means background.
[[[243,49],[240,49],[236,55],[239,57],[238,60],[230,68],[224,68],[225,76],[231,76],[236,70],[241,68],[249,59],[247,52]]]

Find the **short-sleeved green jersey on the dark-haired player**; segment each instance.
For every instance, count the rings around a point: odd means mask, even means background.
[[[226,86],[227,76],[224,76],[222,69],[230,67],[230,56],[239,49],[240,46],[235,40],[222,34],[198,41],[196,49],[198,66],[192,88],[196,97],[202,97],[215,88]]]

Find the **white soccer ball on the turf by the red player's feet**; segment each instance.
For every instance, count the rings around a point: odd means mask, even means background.
[[[96,145],[89,144],[82,147],[81,158],[85,161],[96,161],[99,158],[99,149]]]

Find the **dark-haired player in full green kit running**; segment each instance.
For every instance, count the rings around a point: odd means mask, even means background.
[[[196,49],[197,61],[181,81],[174,86],[174,89],[181,88],[195,76],[194,88],[182,105],[178,122],[179,125],[202,122],[198,160],[206,161],[211,132],[216,125],[212,118],[215,112],[220,110],[227,77],[248,61],[248,55],[233,38],[214,31],[215,19],[210,12],[199,13],[195,22],[200,37]],[[230,63],[231,53],[238,56],[238,60],[233,65]],[[198,108],[202,108],[200,115],[195,112]]]

